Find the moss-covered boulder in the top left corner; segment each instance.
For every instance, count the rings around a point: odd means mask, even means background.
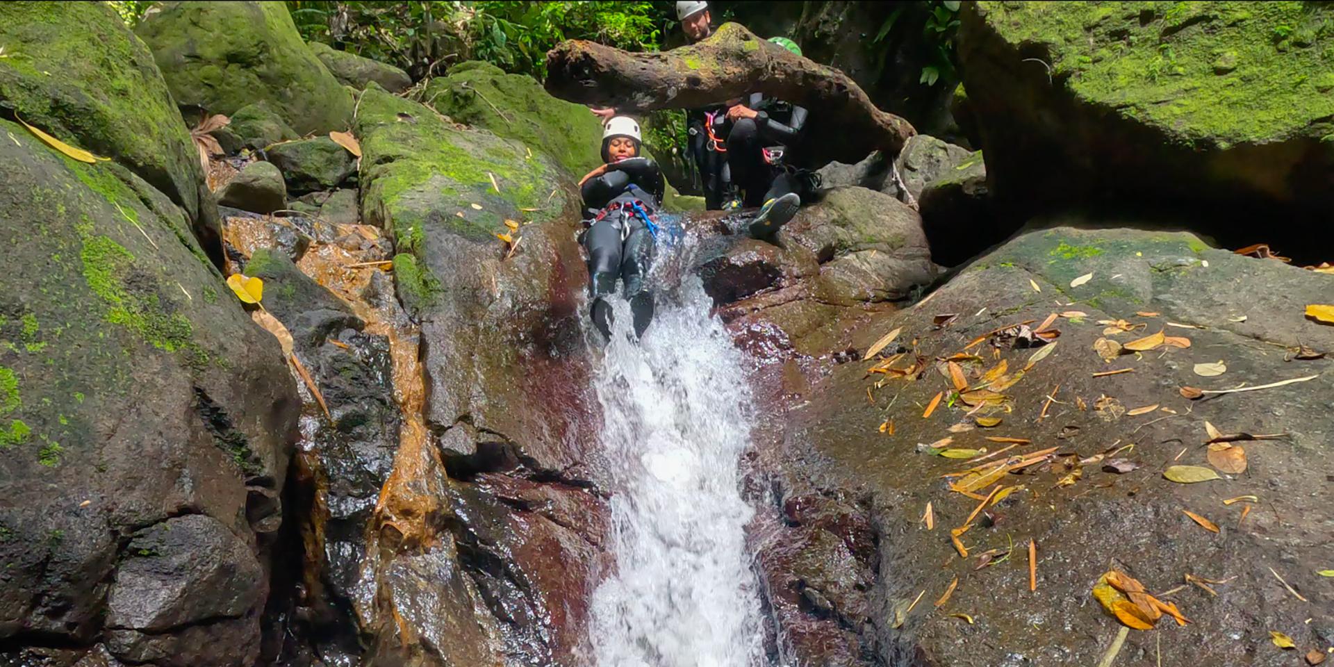
[[[220,257],[199,152],[152,53],[104,3],[0,4],[0,108],[125,165],[181,207]],[[15,136],[31,136],[21,127]]]

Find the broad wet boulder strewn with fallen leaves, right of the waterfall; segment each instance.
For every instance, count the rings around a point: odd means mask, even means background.
[[[1069,285],[1087,272],[1094,273],[1087,283]],[[1298,338],[1321,350],[1334,344],[1327,327],[1302,317],[1301,305],[1327,293],[1331,281],[1278,261],[1210,249],[1189,235],[1038,229],[980,257],[928,300],[854,331],[854,359],[860,359],[876,339],[902,328],[898,343],[884,354],[906,352],[900,367],[911,363],[914,354],[922,355],[918,359],[927,368],[919,380],[887,378],[878,387],[882,376],[866,372],[871,362],[851,360],[820,366],[810,388],[802,390],[796,383],[780,384],[780,375],[771,371],[771,396],[791,399],[787,404],[792,407],[760,434],[754,466],[776,475],[752,483],[756,491],[776,484],[778,491],[762,498],[780,510],[768,515],[775,522],[772,532],[760,528],[752,539],[759,544],[771,599],[802,595],[806,600],[804,606],[788,603],[799,611],[791,614],[792,620],[779,622],[780,628],[794,628],[780,630],[779,642],[787,642],[790,655],[804,656],[802,664],[848,659],[827,655],[830,646],[844,646],[842,656],[854,655],[856,647],[864,652],[864,662],[848,664],[1093,664],[1119,624],[1090,592],[1102,572],[1117,567],[1154,594],[1183,584],[1186,574],[1227,580],[1211,586],[1217,598],[1190,584],[1170,595],[1191,623],[1159,623],[1158,632],[1167,635],[1161,642],[1165,663],[1289,664],[1293,656],[1269,642],[1269,630],[1275,628],[1299,638],[1299,646],[1318,646],[1318,631],[1305,619],[1313,612],[1314,618],[1329,616],[1329,603],[1310,595],[1313,603],[1295,599],[1269,567],[1298,592],[1314,592],[1319,586],[1314,571],[1327,544],[1330,519],[1329,510],[1315,500],[1319,492],[1309,491],[1329,483],[1321,472],[1329,456],[1319,443],[1329,431],[1323,415],[1330,362],[1285,362],[1294,352],[1283,348],[1295,350]],[[1053,301],[1049,295],[1058,296]],[[1009,396],[1005,408],[986,412],[1000,418],[999,426],[976,426],[980,415],[967,416],[972,406],[962,400],[943,402],[928,419],[922,418],[931,398],[950,388],[939,359],[998,327],[1022,321],[1037,327],[1053,311],[1075,309],[1086,315],[1058,319],[1057,347],[1003,391]],[[938,327],[940,313],[959,315]],[[1106,325],[1097,324],[1122,317],[1145,328],[1105,336]],[[1127,343],[1159,328],[1189,338],[1191,346],[1126,355],[1114,363],[1105,363],[1093,350],[1099,338]],[[992,354],[992,340],[971,348],[982,362],[963,362],[970,383],[999,360],[1009,362],[1011,371],[1023,370],[1034,355],[1034,350],[1011,350],[1009,340]],[[1193,372],[1195,363],[1219,358],[1227,364],[1223,376]],[[1134,371],[1093,375],[1123,367]],[[1179,386],[1222,388],[1309,375],[1317,378],[1198,402],[1178,394]],[[782,394],[794,386],[798,392]],[[1143,414],[1134,410],[1147,406],[1157,407]],[[882,431],[890,420],[892,431]],[[1250,467],[1242,475],[1190,486],[1163,479],[1162,471],[1171,464],[1209,466],[1201,446],[1207,440],[1205,420],[1229,432],[1289,435],[1234,443],[1250,454]],[[956,423],[966,430],[950,432]],[[783,435],[766,440],[766,432]],[[982,511],[960,538],[970,552],[963,559],[948,531],[962,526],[979,502],[950,491],[939,475],[968,464],[931,456],[918,443],[952,438],[948,447],[1005,447],[984,440],[987,436],[1031,440],[1010,455],[1057,447],[1057,455],[1071,454],[1074,460],[1134,443],[1118,456],[1139,467],[1117,475],[1105,472],[1094,459],[1082,466],[1082,478],[1062,484],[1070,475],[1070,468],[1059,464],[1071,460],[1066,458],[999,479],[1015,490]],[[864,502],[828,500],[839,494]],[[1262,502],[1239,522],[1249,503],[1225,506],[1221,500],[1246,494]],[[858,531],[834,531],[844,535],[842,546],[851,559],[831,548],[838,544],[828,538],[811,539],[810,519],[794,511],[811,496],[832,507],[831,515],[844,526],[870,527],[871,558],[856,548],[855,538],[847,538]],[[927,502],[934,506],[934,531],[923,523]],[[1182,510],[1210,518],[1221,534],[1191,523]],[[1037,543],[1037,591],[1029,591],[1029,540]],[[994,563],[1011,548],[1009,559]],[[807,563],[820,567],[811,570]],[[954,578],[958,587],[935,608],[931,600],[942,596]],[[844,582],[870,586],[864,598],[848,596],[847,591],[860,591]],[[810,588],[819,595],[806,594]],[[895,612],[919,594],[923,599],[914,611]],[[866,607],[858,606],[862,599]],[[782,614],[784,606],[774,606]],[[974,623],[947,615],[954,612]],[[838,615],[838,624],[826,624],[823,634],[808,630],[831,614]],[[842,638],[842,644],[828,639],[830,632]],[[1159,644],[1151,635],[1131,631],[1121,659],[1155,660]]]

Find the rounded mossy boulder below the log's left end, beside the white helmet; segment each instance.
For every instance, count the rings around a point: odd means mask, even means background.
[[[602,123],[588,107],[552,97],[536,79],[470,60],[431,80],[426,100],[452,120],[480,127],[551,156],[576,181],[602,164]],[[652,153],[644,151],[652,157]],[[663,205],[703,209],[667,185]]]

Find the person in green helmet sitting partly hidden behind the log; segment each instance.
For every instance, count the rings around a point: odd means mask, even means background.
[[[787,37],[770,41],[802,55],[802,48]],[[792,149],[800,143],[806,117],[806,108],[763,93],[752,93],[746,104],[727,109],[732,121],[727,135],[731,183],[723,208],[760,207],[750,224],[756,239],[771,237],[816,187],[812,172],[794,167]]]

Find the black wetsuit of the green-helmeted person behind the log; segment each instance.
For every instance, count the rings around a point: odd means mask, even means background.
[[[755,119],[732,123],[727,135],[727,163],[732,184],[744,191],[743,205],[758,207],[770,199],[796,192],[810,197],[808,179],[792,168],[798,157],[806,108],[752,93],[747,107],[759,112]],[[772,160],[764,157],[768,149]]]

